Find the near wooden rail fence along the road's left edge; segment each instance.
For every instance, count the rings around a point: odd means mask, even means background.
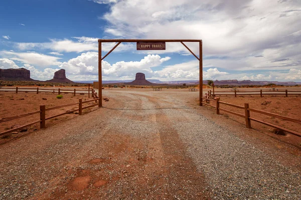
[[[24,124],[24,125],[21,125],[19,127],[16,127],[14,129],[6,130],[4,132],[0,132],[0,135],[8,134],[8,133],[13,132],[15,130],[22,129],[24,127],[27,127],[27,126],[30,126],[30,125],[33,125],[33,124],[36,124],[36,123],[39,123],[39,122],[40,122],[40,128],[45,128],[46,127],[46,125],[45,125],[46,120],[54,118],[54,117],[58,117],[58,116],[61,116],[61,115],[64,115],[64,114],[69,114],[69,113],[75,112],[75,111],[78,111],[78,114],[82,115],[82,110],[83,109],[99,105],[99,103],[97,103],[97,101],[99,101],[101,99],[99,99],[99,97],[97,95],[97,92],[95,92],[94,89],[91,89],[91,93],[92,93],[93,99],[90,99],[90,100],[82,101],[82,99],[78,99],[79,102],[76,102],[76,103],[70,103],[70,104],[59,105],[59,106],[48,107],[48,108],[46,108],[45,105],[40,105],[40,110],[33,111],[33,112],[28,112],[28,113],[24,113],[24,114],[19,114],[19,115],[15,115],[15,116],[9,116],[9,117],[6,117],[6,118],[2,118],[2,119],[0,119],[0,123],[40,113],[40,120],[36,120],[36,121],[31,122],[31,123]],[[88,102],[92,102],[92,101],[95,101],[96,103],[83,107],[84,103],[88,103]],[[72,106],[72,105],[78,105],[78,109],[46,117],[46,111],[53,110],[53,109],[58,109],[58,108],[62,108],[62,107],[68,107],[68,106]]]

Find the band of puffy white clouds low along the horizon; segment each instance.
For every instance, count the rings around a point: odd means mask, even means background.
[[[134,79],[136,72],[143,72],[149,79],[169,80],[198,80],[198,60],[183,62],[164,66],[163,69],[154,71],[153,66],[159,66],[170,57],[161,58],[159,55],[147,55],[139,61],[120,61],[110,64],[102,61],[102,75],[104,80],[109,79]],[[54,68],[37,68],[31,64],[24,66],[31,71],[31,78],[36,80],[49,80],[53,78],[54,72],[64,68],[67,77],[71,80],[97,80],[98,79],[98,54],[97,52],[82,53],[76,58],[63,62]],[[20,68],[14,60],[0,58],[0,68]],[[278,80],[299,81],[301,80],[301,69],[289,69],[282,71],[267,71],[259,73],[228,73],[217,68],[208,68],[203,71],[203,79],[222,80]]]

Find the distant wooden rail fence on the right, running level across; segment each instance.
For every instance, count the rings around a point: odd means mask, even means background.
[[[288,95],[301,95],[301,91],[296,91],[296,90],[273,90],[273,91],[266,91],[266,90],[257,90],[257,91],[238,91],[238,90],[233,90],[233,91],[209,91],[211,96],[217,96],[217,95],[234,95],[237,97],[237,95],[260,95],[262,97],[263,95],[285,95],[287,97]]]

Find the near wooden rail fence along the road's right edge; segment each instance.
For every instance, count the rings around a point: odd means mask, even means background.
[[[275,114],[275,113],[271,113],[271,112],[262,111],[262,110],[259,110],[259,109],[250,108],[249,103],[244,103],[244,106],[240,106],[240,105],[235,105],[235,104],[232,104],[232,103],[220,101],[219,97],[217,97],[216,99],[212,99],[211,96],[210,96],[210,93],[207,93],[202,99],[203,99],[202,101],[206,101],[206,102],[203,102],[204,105],[208,105],[208,106],[216,108],[216,113],[217,114],[220,114],[220,111],[224,111],[224,112],[228,112],[230,114],[234,114],[236,116],[240,116],[240,117],[245,118],[247,128],[251,128],[251,120],[253,120],[253,121],[256,121],[256,122],[259,122],[259,123],[262,123],[262,124],[265,124],[265,125],[268,125],[268,126],[271,126],[271,127],[274,127],[274,128],[281,129],[285,132],[288,132],[288,133],[291,133],[291,134],[294,134],[294,135],[297,135],[297,136],[301,136],[301,133],[299,133],[299,132],[289,130],[287,128],[280,127],[278,125],[274,125],[272,123],[268,123],[268,122],[256,119],[254,117],[251,117],[250,112],[257,112],[257,113],[261,113],[261,114],[264,114],[264,115],[273,116],[273,117],[276,117],[276,118],[292,121],[292,122],[295,122],[295,123],[298,123],[298,124],[301,124],[300,119],[295,119],[295,118],[291,118],[291,117],[287,117],[287,116],[283,116],[283,115],[279,115],[279,114]],[[210,101],[212,101],[214,105],[211,105]],[[244,114],[222,108],[221,104],[232,106],[232,107],[235,107],[235,108],[238,108],[238,109],[243,109]]]

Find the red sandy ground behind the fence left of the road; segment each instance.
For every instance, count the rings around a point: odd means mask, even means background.
[[[70,104],[70,103],[76,103],[78,102],[80,98],[84,100],[88,100],[88,94],[76,94],[76,96],[73,96],[73,94],[68,93],[65,94],[63,93],[63,98],[59,99],[56,98],[57,93],[50,93],[50,92],[41,92],[39,94],[34,94],[34,93],[26,93],[26,92],[19,92],[18,94],[12,93],[12,92],[1,92],[0,93],[0,118],[6,118],[9,116],[15,116],[19,114],[24,114],[27,112],[33,112],[37,111],[40,109],[40,105],[46,105],[46,108],[48,107],[54,107],[58,105],[64,105],[64,104]],[[44,98],[44,99],[43,99]],[[47,100],[45,100],[47,99]],[[91,95],[90,95],[91,99]],[[86,103],[85,106],[92,104],[95,102],[89,102]],[[95,106],[96,107],[96,106]],[[85,112],[88,112],[92,109],[95,109],[95,107],[92,108],[87,108],[83,110],[83,114]],[[53,116],[59,113],[71,111],[78,109],[78,105],[72,105],[68,107],[63,107],[63,108],[58,108],[58,109],[53,109],[46,111],[46,117]],[[56,124],[56,121],[62,121],[62,120],[67,120],[71,119],[75,116],[78,115],[78,111],[72,112],[70,114],[64,114],[62,116],[54,117],[49,120],[46,120],[46,127]],[[40,119],[40,114],[33,114],[30,116],[18,118],[18,119],[13,119],[10,121],[5,121],[0,123],[0,132],[16,128],[22,125],[25,125],[30,122],[34,122],[36,120]],[[2,135],[0,137],[0,144],[5,143],[7,141],[10,141],[12,139],[18,138],[22,135],[26,135],[32,131],[35,131],[40,128],[40,124],[36,123],[34,125],[29,126],[27,131],[24,132],[19,132],[17,134],[6,134]]]

